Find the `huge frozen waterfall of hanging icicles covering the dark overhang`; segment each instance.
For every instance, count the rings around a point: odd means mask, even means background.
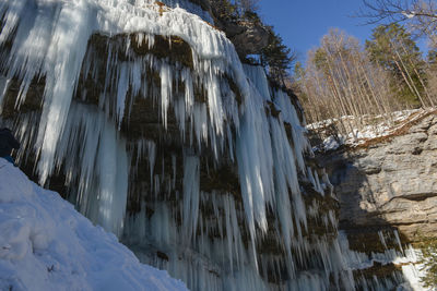
[[[81,213],[192,290],[354,290],[292,98],[208,12],[164,3],[0,3],[19,162],[42,184],[61,177]]]

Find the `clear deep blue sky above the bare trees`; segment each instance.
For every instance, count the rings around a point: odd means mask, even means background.
[[[374,26],[363,25],[363,19],[351,17],[361,8],[361,0],[260,0],[258,12],[304,61],[306,51],[318,46],[330,27],[345,31],[362,44],[370,38]]]

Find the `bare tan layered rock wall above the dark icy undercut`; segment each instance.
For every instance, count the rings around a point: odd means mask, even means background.
[[[437,114],[389,141],[319,157],[341,203],[340,228],[395,228],[405,241],[437,233]]]

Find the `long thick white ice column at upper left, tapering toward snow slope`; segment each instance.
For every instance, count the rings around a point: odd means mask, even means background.
[[[72,20],[74,20],[73,23]],[[87,7],[85,1],[80,1],[75,7],[63,5],[57,20],[58,23],[63,24],[57,25],[51,35],[51,44],[45,62],[47,84],[44,92],[46,100],[43,110],[43,126],[39,128],[38,133],[38,140],[42,143],[38,163],[42,184],[52,171],[56,144],[66,124],[86,44],[94,28],[94,20],[95,11]],[[76,49],[71,50],[72,47]]]

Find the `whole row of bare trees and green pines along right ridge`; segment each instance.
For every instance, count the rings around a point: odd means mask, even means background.
[[[292,83],[308,123],[330,120],[331,134],[356,137],[371,123],[392,125],[393,111],[437,105],[437,10],[420,0],[410,2],[364,1],[371,12],[362,15],[367,24],[387,21],[373,29],[370,39],[362,45],[332,28],[308,51],[305,65],[296,63]],[[425,57],[417,37],[428,41]]]

